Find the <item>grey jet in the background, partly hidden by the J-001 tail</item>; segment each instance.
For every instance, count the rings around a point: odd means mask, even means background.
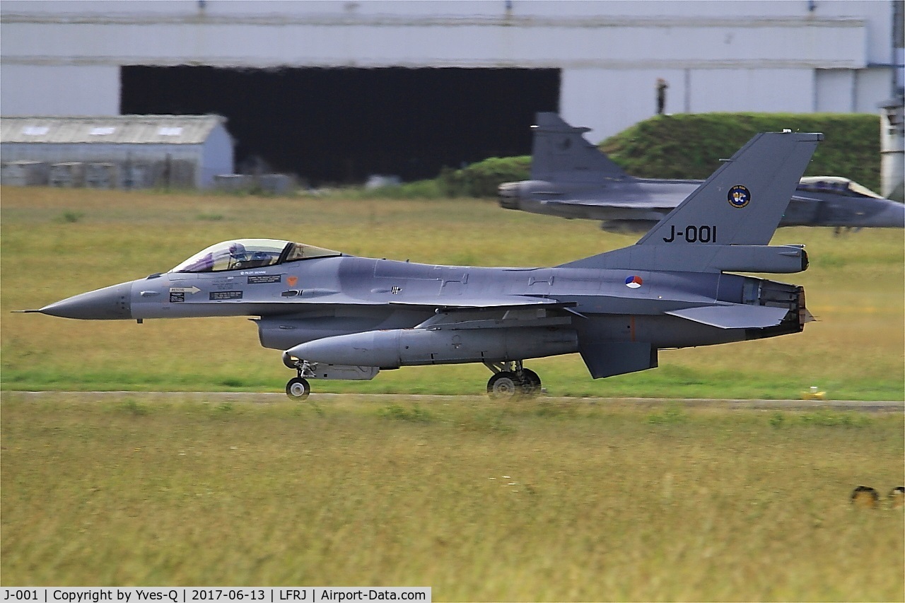
[[[531,179],[499,187],[500,206],[535,214],[601,220],[610,232],[643,233],[691,195],[701,180],[626,174],[556,113],[538,113]],[[841,177],[805,177],[780,226],[905,227],[905,205]]]

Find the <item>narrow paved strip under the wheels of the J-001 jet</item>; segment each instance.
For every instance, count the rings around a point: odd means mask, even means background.
[[[86,402],[103,399],[115,399],[117,397],[131,397],[144,401],[166,399],[195,399],[199,402],[235,401],[235,402],[283,402],[286,395],[282,393],[255,393],[255,392],[142,392],[142,391],[81,391],[81,392],[57,392],[57,391],[29,391],[14,392],[5,391],[2,397],[22,396],[25,398],[48,399],[62,396],[76,399],[84,399]],[[459,400],[486,400],[486,396],[429,396],[409,394],[311,394],[311,402],[323,402],[329,404],[332,400],[343,397],[354,397],[358,400],[382,402],[393,399],[395,401],[418,402],[421,404],[450,404]],[[660,398],[660,397],[553,397],[541,395],[538,399],[550,402],[583,402],[586,404],[622,404],[638,407],[656,407],[672,402],[679,402],[687,407],[702,408],[757,408],[766,410],[813,410],[815,408],[832,408],[834,410],[859,410],[864,412],[905,412],[905,401],[902,400],[729,400],[719,398]],[[304,404],[304,403],[301,403]]]

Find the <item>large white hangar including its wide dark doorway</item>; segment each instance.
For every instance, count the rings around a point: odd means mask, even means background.
[[[528,153],[538,110],[605,139],[656,112],[658,80],[667,113],[876,114],[897,88],[900,6],[5,0],[0,111],[217,113],[240,162],[432,177]]]

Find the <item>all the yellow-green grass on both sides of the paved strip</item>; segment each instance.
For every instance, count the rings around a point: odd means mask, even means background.
[[[900,413],[568,397],[903,398],[900,231],[782,230],[820,321],[666,350],[552,396],[481,396],[481,366],[318,382],[306,403],[71,390],[280,392],[244,319],[67,321],[9,311],[167,270],[236,237],[429,263],[553,265],[632,244],[489,200],[0,191],[0,583],[431,586],[436,600],[902,600]],[[33,395],[18,390],[45,390]],[[463,393],[449,402],[405,394]],[[563,398],[565,397],[565,398]],[[271,398],[267,398],[271,399]]]

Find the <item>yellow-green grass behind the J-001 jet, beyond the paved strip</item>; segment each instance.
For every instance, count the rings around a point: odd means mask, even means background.
[[[292,376],[243,318],[69,321],[9,311],[161,272],[205,246],[242,237],[299,240],[348,254],[425,263],[545,266],[633,244],[595,223],[500,209],[494,201],[261,198],[4,187],[0,203],[2,388],[281,391]],[[663,350],[660,368],[593,380],[577,355],[538,359],[554,396],[799,397],[903,394],[902,231],[781,229],[807,244],[805,285],[818,322],[771,340]],[[776,275],[774,275],[776,278]],[[480,394],[481,365],[408,368],[315,391]]]

